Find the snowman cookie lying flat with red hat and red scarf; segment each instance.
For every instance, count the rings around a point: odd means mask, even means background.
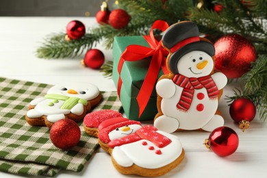
[[[157,177],[178,166],[184,157],[176,136],[140,122],[118,117],[99,125],[99,144],[114,167],[125,175]]]

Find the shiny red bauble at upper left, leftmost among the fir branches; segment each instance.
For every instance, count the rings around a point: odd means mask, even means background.
[[[66,26],[66,33],[68,38],[77,40],[84,36],[86,33],[86,27],[80,21],[71,21]]]

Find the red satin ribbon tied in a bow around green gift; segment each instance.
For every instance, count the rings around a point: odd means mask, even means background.
[[[155,21],[153,23],[149,36],[143,36],[149,47],[143,47],[137,44],[129,45],[125,51],[120,56],[120,61],[118,62],[118,96],[120,97],[120,89],[123,84],[123,81],[120,78],[120,72],[123,68],[123,63],[125,61],[138,61],[143,60],[144,58],[148,58],[152,56],[151,63],[149,66],[149,70],[147,71],[147,75],[144,78],[144,82],[140,88],[140,92],[136,97],[138,106],[139,106],[139,117],[141,116],[142,112],[144,112],[147,103],[149,102],[149,98],[151,97],[151,93],[157,81],[157,75],[160,72],[160,68],[164,74],[169,73],[166,67],[166,58],[165,56],[168,55],[168,51],[166,51],[162,47],[162,41],[158,42],[153,34],[153,29],[160,29],[161,31],[165,31],[168,28],[168,23],[165,21]]]

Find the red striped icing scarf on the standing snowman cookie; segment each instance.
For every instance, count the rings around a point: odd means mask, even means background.
[[[194,96],[194,89],[206,88],[209,99],[215,99],[220,94],[214,80],[209,75],[199,78],[188,78],[177,74],[173,77],[173,82],[183,88],[181,98],[176,105],[179,110],[189,110]]]

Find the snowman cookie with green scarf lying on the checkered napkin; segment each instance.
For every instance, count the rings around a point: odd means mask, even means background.
[[[29,125],[47,127],[63,118],[78,122],[101,99],[101,92],[93,84],[55,85],[44,97],[31,101],[26,120]]]

